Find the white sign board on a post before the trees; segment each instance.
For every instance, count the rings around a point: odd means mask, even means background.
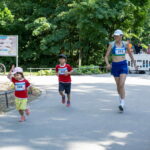
[[[0,35],[0,56],[18,56],[18,36]]]

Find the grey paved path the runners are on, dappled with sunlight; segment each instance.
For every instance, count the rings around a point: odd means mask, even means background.
[[[17,122],[16,111],[0,117],[0,150],[150,150],[147,75],[128,77],[124,114],[109,75],[74,76],[71,108],[60,103],[56,77],[32,82],[45,92],[30,103],[26,122]]]

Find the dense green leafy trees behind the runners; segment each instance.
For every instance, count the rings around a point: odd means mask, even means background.
[[[150,0],[1,0],[0,31],[19,35],[19,63],[25,67],[53,67],[59,53],[67,54],[73,66],[81,65],[81,59],[83,65],[102,65],[115,29],[148,43],[149,4]],[[13,59],[1,62],[10,64]]]

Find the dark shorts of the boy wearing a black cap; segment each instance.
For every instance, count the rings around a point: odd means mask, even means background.
[[[71,83],[59,82],[59,92],[65,91],[66,94],[71,92]]]

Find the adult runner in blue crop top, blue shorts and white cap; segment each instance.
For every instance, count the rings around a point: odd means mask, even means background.
[[[105,55],[105,62],[106,68],[111,69],[111,74],[115,78],[117,91],[119,94],[119,110],[121,112],[124,111],[125,105],[125,80],[128,74],[128,65],[125,58],[126,50],[136,67],[136,63],[134,61],[133,55],[131,53],[131,49],[128,42],[122,41],[123,32],[121,30],[116,30],[113,34],[114,41],[111,42],[108,46],[106,55]],[[110,53],[112,54],[112,64],[109,63],[109,56]]]

